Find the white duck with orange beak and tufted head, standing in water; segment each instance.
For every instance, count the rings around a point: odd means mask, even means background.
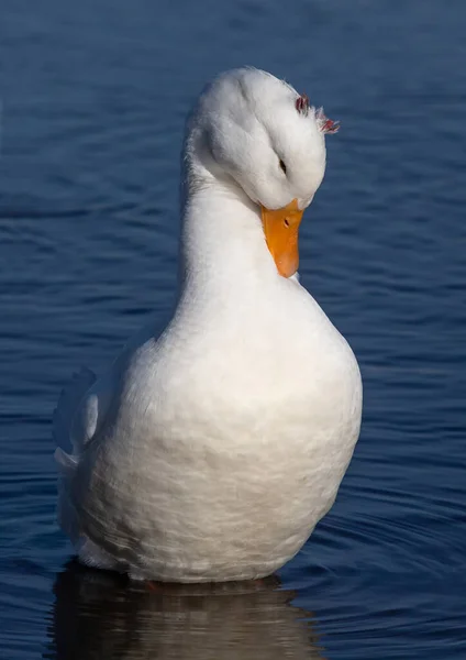
[[[175,582],[267,575],[331,508],[356,443],[354,354],[298,283],[333,122],[228,72],[188,121],[179,300],[55,414],[59,521],[82,562]]]

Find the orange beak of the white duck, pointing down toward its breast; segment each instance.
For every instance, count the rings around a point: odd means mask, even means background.
[[[284,277],[291,277],[298,271],[298,230],[301,219],[302,211],[298,208],[297,199],[275,211],[262,207],[265,240],[277,271]]]

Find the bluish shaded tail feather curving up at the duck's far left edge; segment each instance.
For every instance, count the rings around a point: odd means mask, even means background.
[[[58,399],[58,405],[54,411],[53,419],[53,437],[55,443],[63,451],[56,452],[56,459],[59,460],[64,451],[71,450],[70,428],[73,417],[82,400],[82,397],[96,382],[96,374],[89,369],[82,367],[79,372],[73,375],[71,382],[62,391]]]

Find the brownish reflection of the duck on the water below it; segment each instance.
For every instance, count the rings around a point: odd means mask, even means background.
[[[145,584],[70,563],[55,583],[54,660],[322,660],[317,637],[276,579],[220,585]]]

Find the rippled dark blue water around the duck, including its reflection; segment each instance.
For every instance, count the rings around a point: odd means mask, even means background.
[[[2,1],[2,657],[465,657],[465,29],[461,0]],[[171,304],[184,118],[243,63],[342,120],[301,275],[363,432],[281,591],[152,593],[68,565],[51,416]]]

